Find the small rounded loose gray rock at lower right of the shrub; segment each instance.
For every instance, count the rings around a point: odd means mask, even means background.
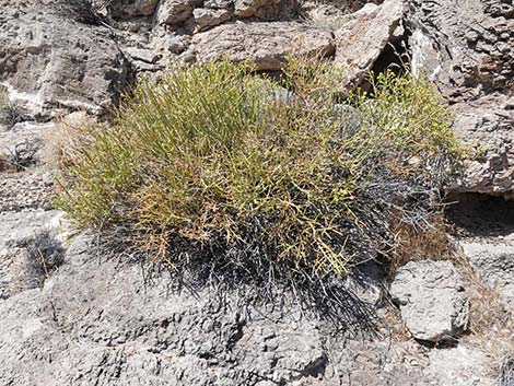
[[[416,339],[440,341],[466,330],[468,299],[451,261],[410,261],[396,273],[390,295]]]

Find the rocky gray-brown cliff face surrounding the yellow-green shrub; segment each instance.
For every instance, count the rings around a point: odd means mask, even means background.
[[[179,291],[165,270],[72,235],[48,202],[45,143],[59,119],[108,116],[138,77],[175,61],[229,56],[280,71],[285,56],[316,52],[346,66],[348,90],[388,65],[390,43],[437,84],[455,131],[483,147],[451,189],[509,198],[512,1],[0,0],[0,9],[9,97],[0,126],[0,385],[509,385],[513,371],[499,381],[491,349],[509,346],[513,331],[514,223],[500,215],[513,210],[503,198],[468,202],[483,208],[468,223],[484,231],[459,239],[479,283],[448,261],[410,262],[390,297],[373,264],[366,280],[346,279],[348,318],[327,320],[292,294],[256,305],[241,291]],[[474,334],[484,304],[490,313],[505,305],[488,344]]]

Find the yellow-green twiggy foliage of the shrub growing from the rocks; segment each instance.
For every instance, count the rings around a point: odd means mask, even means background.
[[[427,80],[379,74],[372,97],[337,104],[342,74],[328,62],[290,59],[289,91],[250,70],[222,60],[141,82],[112,126],[81,128],[90,139],[65,163],[58,206],[161,248],[172,235],[243,242],[258,223],[252,237],[277,259],[342,274],[366,232],[366,187],[384,173],[430,184],[460,155]]]

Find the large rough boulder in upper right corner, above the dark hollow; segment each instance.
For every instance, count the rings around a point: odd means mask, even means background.
[[[458,191],[514,189],[514,19],[509,1],[409,2],[412,70],[452,104],[455,132],[482,156],[468,163]]]

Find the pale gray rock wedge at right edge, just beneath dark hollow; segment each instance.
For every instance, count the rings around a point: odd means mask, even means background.
[[[514,239],[460,241],[459,245],[486,283],[497,289],[514,309]]]

